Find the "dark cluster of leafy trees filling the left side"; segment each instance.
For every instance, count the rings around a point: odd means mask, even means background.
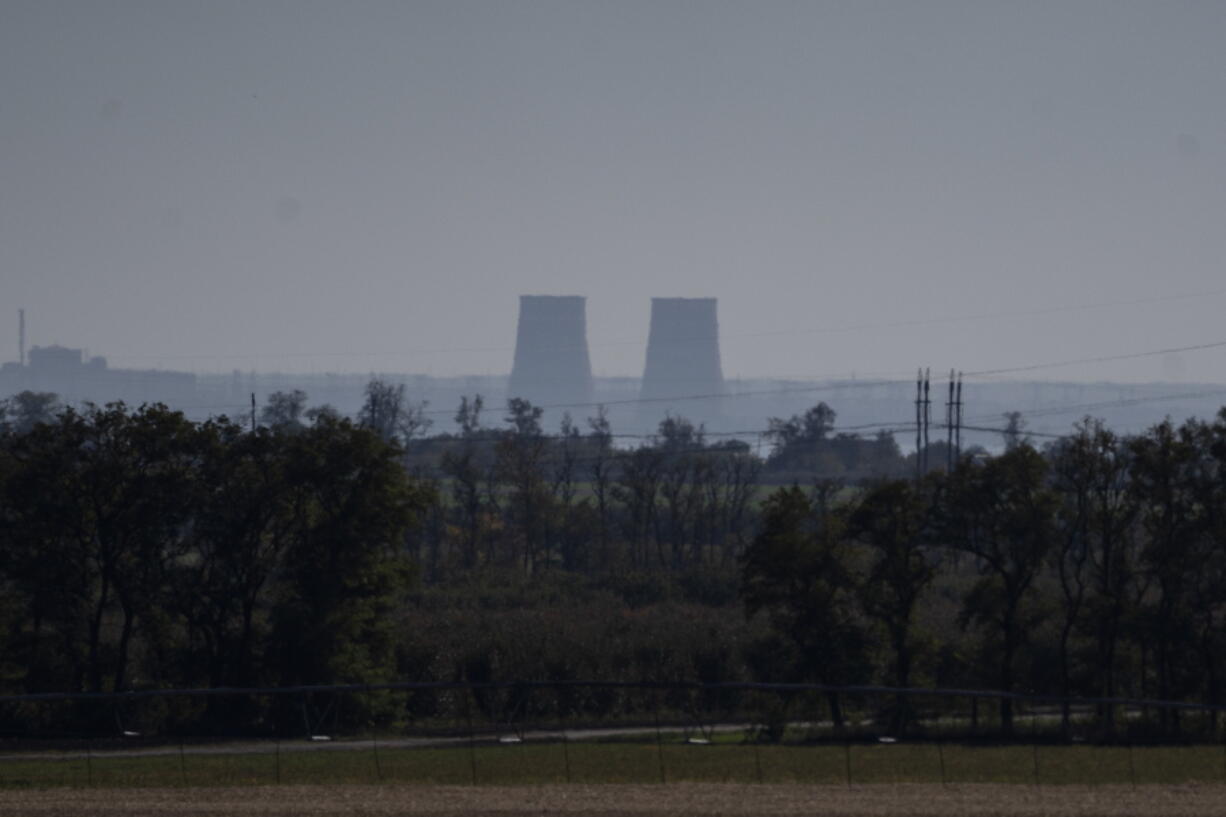
[[[427,488],[369,429],[64,408],[0,497],[6,691],[389,677]]]

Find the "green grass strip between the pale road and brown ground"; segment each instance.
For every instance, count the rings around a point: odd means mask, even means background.
[[[260,752],[116,756],[59,752],[0,759],[0,788],[244,786],[417,783],[1184,784],[1226,781],[1215,746],[753,745],[667,741],[465,743],[432,748],[286,745]],[[1036,777],[1037,762],[1037,777]],[[851,779],[848,780],[848,768]]]

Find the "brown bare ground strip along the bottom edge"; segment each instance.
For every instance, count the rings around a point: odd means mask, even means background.
[[[0,792],[0,816],[291,817],[447,815],[655,817],[663,815],[977,815],[991,817],[1217,817],[1226,785],[1046,786],[550,785],[253,786]]]

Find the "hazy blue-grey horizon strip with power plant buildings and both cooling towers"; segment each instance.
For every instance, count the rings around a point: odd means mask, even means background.
[[[27,343],[28,315],[17,310],[15,361],[0,363],[0,401],[21,391],[53,393],[65,406],[121,400],[129,406],[162,402],[204,421],[221,415],[245,418],[253,396],[264,404],[277,391],[302,389],[313,405],[329,405],[357,415],[370,378],[403,385],[409,400],[427,401],[446,413],[461,396],[482,395],[490,412],[487,427],[500,427],[500,406],[508,397],[526,397],[546,411],[542,427],[558,428],[569,411],[579,428],[607,407],[619,435],[641,439],[657,433],[666,415],[683,416],[707,431],[742,434],[765,428],[772,417],[803,413],[818,400],[840,418],[866,426],[894,427],[900,406],[913,406],[915,382],[851,379],[737,379],[725,388],[720,328],[715,298],[655,298],[651,304],[646,364],[642,377],[593,377],[586,339],[582,297],[524,296],[514,372],[481,375],[381,373],[201,373],[166,369],[112,368],[104,357],[82,348]],[[1208,385],[1208,384],[1206,384]],[[1119,404],[1103,420],[1121,433],[1139,433],[1170,416],[1214,416],[1221,407],[1220,384],[1204,393],[1171,395],[1165,383],[984,383],[975,388],[975,405],[986,416],[1021,407],[1040,411],[1086,402]],[[710,395],[721,395],[711,399]],[[689,397],[700,399],[689,399]],[[1152,402],[1151,402],[1152,401]],[[1156,407],[1155,407],[1155,404]],[[449,426],[440,422],[439,429]],[[997,445],[996,432],[977,433],[975,444]],[[633,444],[633,443],[626,443]]]

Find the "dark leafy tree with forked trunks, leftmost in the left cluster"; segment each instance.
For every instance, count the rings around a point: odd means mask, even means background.
[[[25,579],[63,583],[31,601],[64,604],[85,631],[74,687],[124,689],[139,627],[158,626],[167,570],[185,552],[194,428],[164,406],[65,410],[20,437],[13,455],[10,531],[39,545],[21,561]]]

